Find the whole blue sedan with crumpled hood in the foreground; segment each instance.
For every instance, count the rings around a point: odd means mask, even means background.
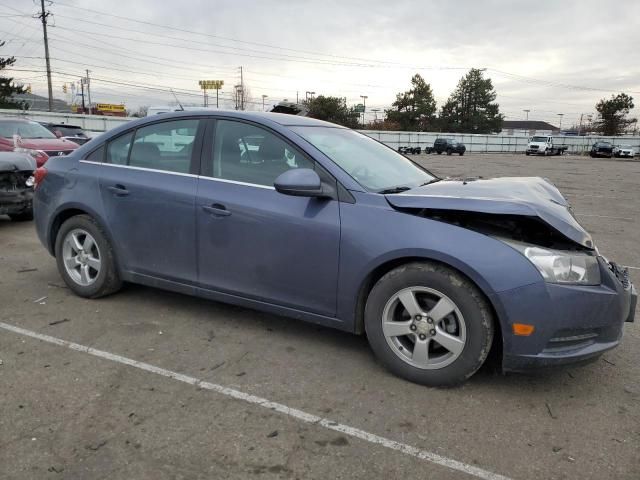
[[[176,112],[36,171],[40,240],[76,294],[123,282],[356,334],[393,373],[459,384],[583,362],[633,321],[628,272],[541,178],[440,179],[304,117]]]

